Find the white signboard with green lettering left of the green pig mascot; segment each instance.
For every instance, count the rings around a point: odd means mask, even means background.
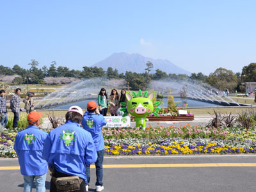
[[[130,116],[104,116],[107,124],[104,127],[131,127]]]

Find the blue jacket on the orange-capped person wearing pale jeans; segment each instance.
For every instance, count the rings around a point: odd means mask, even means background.
[[[47,173],[47,161],[42,157],[47,133],[36,126],[28,126],[17,133],[14,150],[19,156],[22,175],[44,175]]]

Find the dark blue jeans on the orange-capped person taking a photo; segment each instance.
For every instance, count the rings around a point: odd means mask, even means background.
[[[95,167],[96,167],[96,186],[103,186],[103,159],[104,159],[104,149],[103,150],[99,150],[97,151],[98,154],[98,158],[97,161],[95,162]],[[90,182],[90,164],[86,164],[86,171],[85,171],[85,175],[86,175],[86,186],[89,185]]]

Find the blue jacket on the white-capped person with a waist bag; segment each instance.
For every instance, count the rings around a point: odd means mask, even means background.
[[[43,150],[49,168],[54,162],[58,172],[86,180],[85,165],[97,160],[92,136],[76,122],[68,120],[49,132]]]

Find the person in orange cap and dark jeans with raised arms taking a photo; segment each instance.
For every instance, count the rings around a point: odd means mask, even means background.
[[[103,159],[104,159],[104,139],[101,131],[101,127],[106,125],[107,122],[104,119],[104,116],[99,113],[99,109],[97,108],[96,102],[91,100],[87,104],[87,111],[84,113],[82,125],[86,131],[89,131],[92,134],[92,138],[97,150],[98,158],[95,162],[96,167],[96,191],[102,191],[104,189],[103,186]],[[90,164],[86,164],[86,190],[89,187],[90,182]],[[87,190],[88,191],[88,190]]]

